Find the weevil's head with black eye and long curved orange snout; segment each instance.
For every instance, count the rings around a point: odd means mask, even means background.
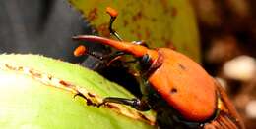
[[[152,64],[154,64],[159,58],[158,51],[132,42],[117,41],[92,35],[79,35],[73,37],[73,39],[108,45],[117,49],[118,51],[124,52],[125,54],[130,54],[135,58],[139,59],[139,62],[143,69],[150,68]]]

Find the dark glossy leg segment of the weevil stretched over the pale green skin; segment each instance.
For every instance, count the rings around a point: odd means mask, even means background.
[[[146,101],[136,99],[136,98],[125,99],[125,98],[117,98],[117,97],[107,97],[103,99],[103,103],[100,104],[99,106],[105,105],[106,103],[117,103],[117,104],[127,105],[141,111],[147,111],[151,109]]]

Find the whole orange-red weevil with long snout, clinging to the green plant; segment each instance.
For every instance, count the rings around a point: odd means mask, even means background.
[[[109,31],[118,40],[93,35],[73,39],[111,46],[118,50],[111,56],[114,58],[132,55],[139,62],[143,97],[107,97],[101,105],[117,103],[141,111],[154,109],[160,128],[244,128],[222,86],[200,64],[169,48],[149,49],[142,42],[123,41],[112,29],[116,11],[108,8],[107,13],[111,16]]]

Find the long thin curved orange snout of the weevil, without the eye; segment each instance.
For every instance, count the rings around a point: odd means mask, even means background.
[[[142,57],[145,54],[148,54],[153,61],[155,61],[158,58],[158,52],[155,50],[150,50],[144,46],[133,44],[130,42],[122,42],[122,41],[116,41],[112,39],[107,39],[103,37],[98,36],[92,36],[92,35],[79,35],[74,36],[74,40],[83,40],[83,41],[91,41],[91,42],[97,42],[104,45],[109,45],[117,50],[124,51],[126,53],[130,53],[135,57]]]

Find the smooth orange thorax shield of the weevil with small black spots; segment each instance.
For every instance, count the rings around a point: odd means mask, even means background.
[[[153,88],[186,120],[203,122],[214,115],[217,104],[212,77],[188,57],[160,48],[161,66],[149,77]]]

